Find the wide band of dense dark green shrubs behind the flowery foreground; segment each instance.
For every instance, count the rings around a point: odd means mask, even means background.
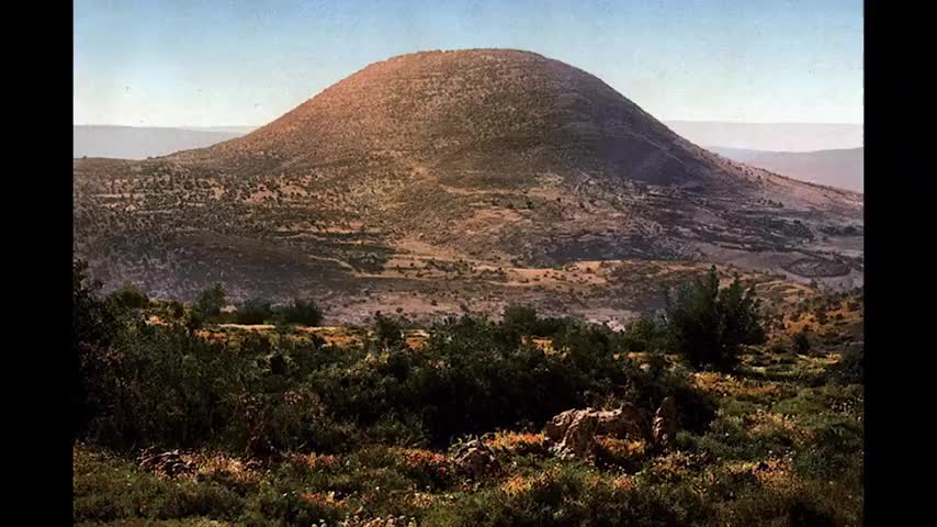
[[[247,302],[237,318],[268,316],[266,303]],[[86,354],[80,370],[82,400],[94,408],[87,437],[116,447],[329,449],[373,430],[443,445],[522,421],[542,425],[584,405],[626,401],[650,412],[669,394],[698,407],[695,415],[711,415],[685,379],[641,370],[623,357],[623,337],[600,326],[564,323],[552,329],[556,352],[547,352],[516,338],[517,326],[463,316],[434,325],[410,349],[399,321],[379,315],[374,346],[339,350],[289,338],[274,346],[252,334],[205,339],[181,325],[122,321],[108,324],[121,330]]]

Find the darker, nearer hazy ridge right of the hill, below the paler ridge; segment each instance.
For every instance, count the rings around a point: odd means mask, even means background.
[[[709,147],[730,159],[803,181],[862,192],[865,148],[819,152],[764,152]]]

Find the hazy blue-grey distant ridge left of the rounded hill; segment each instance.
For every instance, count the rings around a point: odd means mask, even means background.
[[[239,137],[250,130],[75,125],[71,155],[76,158],[146,159],[190,148],[203,148]]]

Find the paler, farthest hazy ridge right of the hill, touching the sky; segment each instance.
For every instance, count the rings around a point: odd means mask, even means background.
[[[770,152],[815,152],[858,148],[861,124],[720,123],[666,121],[674,132],[698,145]]]

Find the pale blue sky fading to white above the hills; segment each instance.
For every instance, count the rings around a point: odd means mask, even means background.
[[[74,123],[259,125],[368,64],[528,49],[662,120],[862,123],[862,2],[75,2]]]

